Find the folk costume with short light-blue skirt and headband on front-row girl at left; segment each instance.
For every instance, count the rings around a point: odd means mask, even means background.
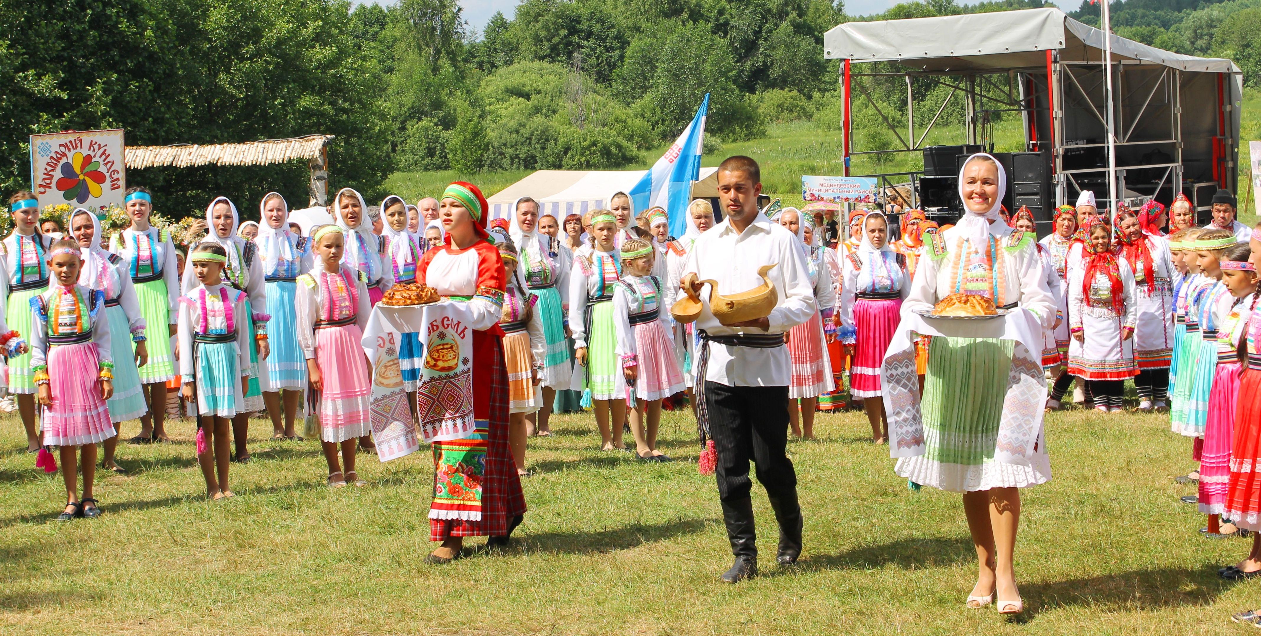
[[[192,257],[226,262],[209,252]],[[192,261],[187,269],[193,269]],[[179,376],[194,386],[198,415],[232,419],[246,413],[241,379],[250,375],[252,339],[247,303],[245,292],[222,283],[198,283],[179,298]]]

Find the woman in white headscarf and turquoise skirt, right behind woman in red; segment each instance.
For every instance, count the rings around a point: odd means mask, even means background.
[[[551,435],[547,420],[551,416],[556,391],[569,389],[572,380],[572,360],[565,346],[565,309],[569,307],[570,262],[562,254],[560,241],[538,231],[538,202],[522,197],[512,204],[508,235],[517,246],[517,273],[538,299],[535,310],[543,324],[547,355],[543,357],[543,401],[537,414],[526,415],[533,428],[537,418],[540,437]]]

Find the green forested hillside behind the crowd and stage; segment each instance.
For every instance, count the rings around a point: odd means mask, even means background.
[[[330,186],[373,201],[395,172],[619,168],[677,135],[706,92],[719,143],[776,121],[835,129],[822,38],[836,24],[1043,5],[931,0],[852,18],[832,0],[525,0],[475,33],[456,0],[0,0],[0,186],[29,186],[28,135],[112,126],[132,145],[337,135]],[[1261,77],[1248,28],[1261,0],[1112,8],[1122,35]],[[1098,9],[1074,15],[1097,23]],[[214,194],[301,203],[306,167],[129,182],[178,217]]]

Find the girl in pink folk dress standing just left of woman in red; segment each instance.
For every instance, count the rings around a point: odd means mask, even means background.
[[[343,265],[344,231],[324,225],[311,232],[315,265],[298,276],[298,344],[311,389],[319,391],[320,442],[328,485],[367,486],[354,471],[356,439],[372,434],[372,380],[359,346],[372,307],[358,271]],[[315,400],[313,400],[314,403]],[[338,463],[338,449],[346,471]]]

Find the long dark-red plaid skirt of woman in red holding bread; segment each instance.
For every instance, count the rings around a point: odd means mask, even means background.
[[[526,512],[521,477],[508,447],[508,368],[498,334],[473,332],[473,394],[474,418],[488,419],[485,472],[480,476],[482,519],[430,519],[430,541],[445,541],[449,536],[503,536],[512,519]],[[435,472],[434,488],[438,487]]]

